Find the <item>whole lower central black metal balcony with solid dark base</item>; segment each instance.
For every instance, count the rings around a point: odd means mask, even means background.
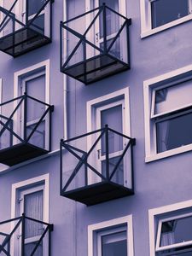
[[[108,125],[61,140],[61,195],[87,206],[133,195],[135,142]]]

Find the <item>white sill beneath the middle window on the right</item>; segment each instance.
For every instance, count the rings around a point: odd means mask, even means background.
[[[164,159],[164,158],[172,156],[172,155],[182,154],[182,153],[188,152],[190,150],[192,150],[192,144],[182,146],[180,148],[174,148],[172,150],[168,150],[166,152],[162,152],[162,153],[159,153],[159,154],[148,155],[148,156],[145,157],[145,162],[149,163],[149,162],[152,162],[154,160]]]

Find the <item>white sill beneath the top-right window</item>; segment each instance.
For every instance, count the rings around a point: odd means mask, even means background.
[[[190,15],[187,15],[181,19],[178,19],[178,20],[173,20],[172,22],[169,22],[163,26],[158,26],[158,27],[155,27],[154,29],[148,29],[147,31],[145,32],[142,32],[141,34],[141,38],[148,38],[149,36],[153,35],[153,34],[156,34],[158,32],[162,32],[168,28],[171,28],[172,26],[177,26],[179,24],[182,24],[184,22],[187,22],[189,20],[192,20],[192,14]]]

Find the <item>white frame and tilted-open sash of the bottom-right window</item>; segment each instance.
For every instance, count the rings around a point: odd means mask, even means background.
[[[160,247],[160,227],[161,227],[160,225],[162,224],[162,222],[172,220],[172,219],[192,216],[192,212],[181,213],[181,210],[184,211],[186,208],[189,208],[189,207],[192,207],[192,200],[182,201],[176,204],[148,210],[150,256],[155,256],[155,252],[192,244],[192,240],[191,240],[191,241],[185,241],[181,243],[175,243],[169,246]],[[160,214],[168,215],[168,214],[172,214],[173,211],[178,211],[178,212],[174,213],[174,216],[172,215],[172,217],[165,218],[165,216],[163,217],[162,215],[162,218],[160,218]],[[159,219],[159,222],[157,225],[155,224],[155,220],[158,221],[156,218]],[[155,229],[155,226],[157,226],[156,229]],[[157,230],[157,240],[155,239],[155,230]]]

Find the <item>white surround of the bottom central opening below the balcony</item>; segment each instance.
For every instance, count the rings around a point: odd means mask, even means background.
[[[97,224],[90,224],[88,226],[88,256],[94,255],[94,233],[102,229],[112,228],[113,226],[126,224],[127,226],[127,256],[133,256],[133,227],[132,227],[132,215],[127,215],[121,218],[113,218],[108,221],[103,221]]]

